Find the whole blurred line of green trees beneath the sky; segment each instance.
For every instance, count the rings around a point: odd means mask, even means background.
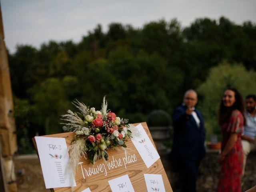
[[[154,110],[171,115],[193,88],[209,135],[218,132],[224,88],[256,93],[256,25],[224,17],[198,18],[185,28],[176,19],[142,28],[111,23],[107,32],[99,24],[78,43],[17,45],[8,57],[21,153],[31,150],[36,133],[62,132],[60,116],[74,110],[76,99],[100,109],[106,95],[112,112],[135,123]]]

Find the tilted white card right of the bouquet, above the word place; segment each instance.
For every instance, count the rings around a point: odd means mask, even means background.
[[[138,129],[138,135],[133,136],[131,140],[147,168],[149,168],[160,158],[160,156],[142,125],[138,124],[136,128]]]

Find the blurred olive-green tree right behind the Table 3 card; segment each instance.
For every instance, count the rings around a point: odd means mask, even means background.
[[[61,115],[70,108],[62,81],[48,78],[30,93],[33,95],[33,121],[43,128],[45,134],[61,132]]]

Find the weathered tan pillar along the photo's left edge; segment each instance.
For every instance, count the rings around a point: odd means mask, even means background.
[[[17,151],[16,127],[13,114],[10,72],[0,7],[0,142],[2,148],[0,163],[5,191],[9,192],[18,191],[13,161],[14,152]]]

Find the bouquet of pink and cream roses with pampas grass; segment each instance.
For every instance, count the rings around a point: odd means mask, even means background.
[[[127,137],[132,137],[132,130],[135,127],[128,124],[128,119],[120,119],[116,114],[107,110],[108,103],[103,98],[102,109],[96,111],[85,104],[73,102],[79,112],[68,110],[68,114],[62,115],[64,131],[75,133],[74,139],[69,147],[70,168],[75,174],[79,159],[86,154],[90,162],[94,164],[99,158],[108,160],[108,149],[114,149],[117,146],[126,148]]]

